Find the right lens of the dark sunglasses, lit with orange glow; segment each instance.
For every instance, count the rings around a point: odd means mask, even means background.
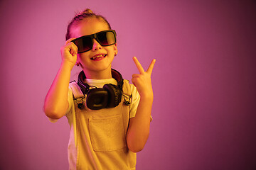
[[[113,45],[116,42],[114,33],[112,31],[98,33],[97,39],[99,40],[100,45],[103,46]]]

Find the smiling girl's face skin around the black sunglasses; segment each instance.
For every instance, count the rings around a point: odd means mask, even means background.
[[[81,21],[77,26],[73,26],[71,35],[73,35],[73,38],[79,38],[83,35],[91,35],[109,29],[104,21],[97,18],[88,18]],[[93,39],[92,50],[78,54],[78,62],[80,62],[86,77],[90,79],[92,74],[111,72],[111,63],[116,54],[117,44],[101,46],[97,40]]]

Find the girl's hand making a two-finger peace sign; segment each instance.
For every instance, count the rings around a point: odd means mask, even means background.
[[[132,75],[132,83],[137,87],[139,95],[141,98],[152,98],[153,99],[153,89],[151,85],[151,73],[153,71],[154,64],[156,60],[152,60],[149,68],[144,71],[142,64],[139,63],[136,57],[133,57],[134,63],[136,64],[139,74]]]

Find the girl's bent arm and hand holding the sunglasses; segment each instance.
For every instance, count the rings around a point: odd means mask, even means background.
[[[44,112],[49,118],[59,119],[68,109],[68,85],[70,73],[77,60],[78,48],[68,40],[61,48],[62,62],[44,103]]]

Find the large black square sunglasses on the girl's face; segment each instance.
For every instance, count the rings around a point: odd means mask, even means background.
[[[115,30],[103,30],[99,33],[85,35],[80,38],[76,38],[71,42],[74,42],[74,44],[78,47],[78,53],[82,53],[92,50],[93,38],[95,38],[95,40],[97,40],[97,42],[99,42],[100,45],[109,46],[117,42],[116,36],[117,33],[115,32]]]

